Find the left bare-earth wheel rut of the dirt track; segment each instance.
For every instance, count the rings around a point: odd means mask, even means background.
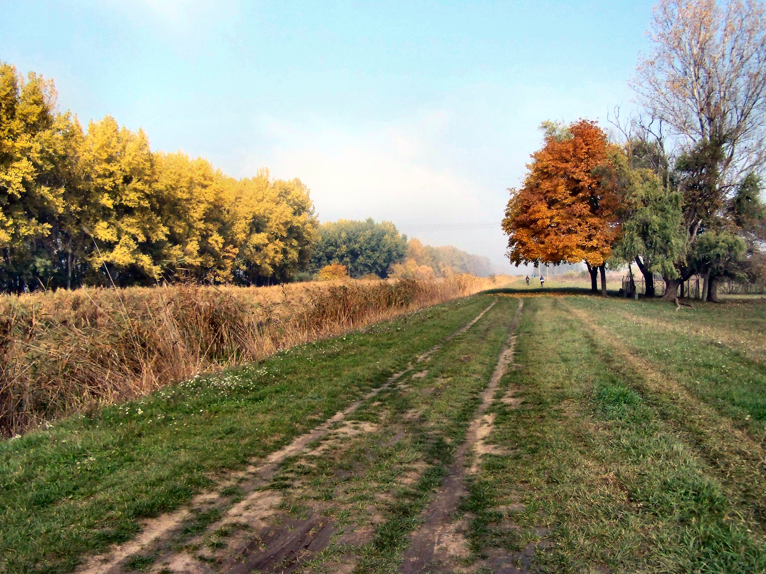
[[[264,519],[273,514],[273,508],[280,504],[282,495],[275,491],[261,489],[268,484],[270,478],[273,477],[287,458],[303,452],[311,442],[321,439],[326,435],[333,425],[342,422],[347,416],[352,415],[362,403],[390,388],[401,377],[414,370],[417,364],[429,360],[430,357],[439,351],[443,344],[468,331],[473,325],[476,325],[477,321],[483,318],[487,311],[496,305],[496,302],[497,299],[493,298],[493,302],[466,325],[463,325],[457,331],[453,331],[453,333],[444,338],[444,341],[434,345],[426,353],[415,357],[414,363],[410,363],[407,368],[394,373],[381,386],[369,391],[362,398],[355,400],[345,409],[339,411],[321,425],[316,426],[312,431],[296,437],[289,445],[270,453],[270,455],[257,461],[257,464],[248,466],[244,471],[233,473],[228,481],[222,481],[218,485],[222,487],[218,491],[203,492],[192,497],[187,508],[146,520],[142,525],[141,532],[133,540],[129,540],[119,546],[113,546],[106,553],[88,556],[75,572],[78,574],[122,574],[129,559],[138,553],[145,555],[152,553],[159,554],[159,558],[154,562],[155,567],[150,569],[152,572],[159,571],[159,569],[165,572],[211,572],[211,567],[208,563],[193,559],[188,553],[173,552],[169,554],[164,550],[176,542],[175,538],[181,533],[185,522],[194,517],[189,508],[202,510],[203,512],[223,510],[224,516],[212,525],[214,527],[225,527],[228,524],[243,523],[247,524],[250,528],[263,527],[265,524]],[[231,497],[225,496],[221,491],[235,482],[240,485],[246,494],[241,501],[231,506]],[[252,543],[250,537],[246,535],[238,536],[237,541],[241,548],[229,549],[231,550],[229,552],[230,555],[237,554],[237,550],[241,552]],[[162,563],[162,566],[159,566],[158,563]]]

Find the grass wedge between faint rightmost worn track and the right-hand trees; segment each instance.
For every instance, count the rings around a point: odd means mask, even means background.
[[[766,338],[766,305],[703,304],[674,311],[658,302],[573,299],[633,354],[705,403],[761,437],[766,429],[766,354],[750,354]],[[659,322],[639,322],[649,318]],[[696,332],[695,329],[705,328]],[[736,331],[740,338],[727,337]]]

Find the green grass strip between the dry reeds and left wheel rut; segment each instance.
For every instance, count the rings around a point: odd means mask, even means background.
[[[67,572],[313,428],[489,299],[439,305],[0,443],[0,571]]]

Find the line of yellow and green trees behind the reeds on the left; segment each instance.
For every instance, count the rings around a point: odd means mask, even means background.
[[[408,243],[393,223],[321,226],[309,190],[267,170],[237,180],[155,152],[106,116],[83,129],[51,80],[0,63],[0,289],[160,282],[264,285],[331,263],[353,277],[489,275],[489,259]]]

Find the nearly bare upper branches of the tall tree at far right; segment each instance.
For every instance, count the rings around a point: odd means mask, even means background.
[[[722,148],[718,187],[766,161],[766,18],[756,0],[660,0],[633,89],[683,151]],[[643,125],[647,133],[650,126]]]

